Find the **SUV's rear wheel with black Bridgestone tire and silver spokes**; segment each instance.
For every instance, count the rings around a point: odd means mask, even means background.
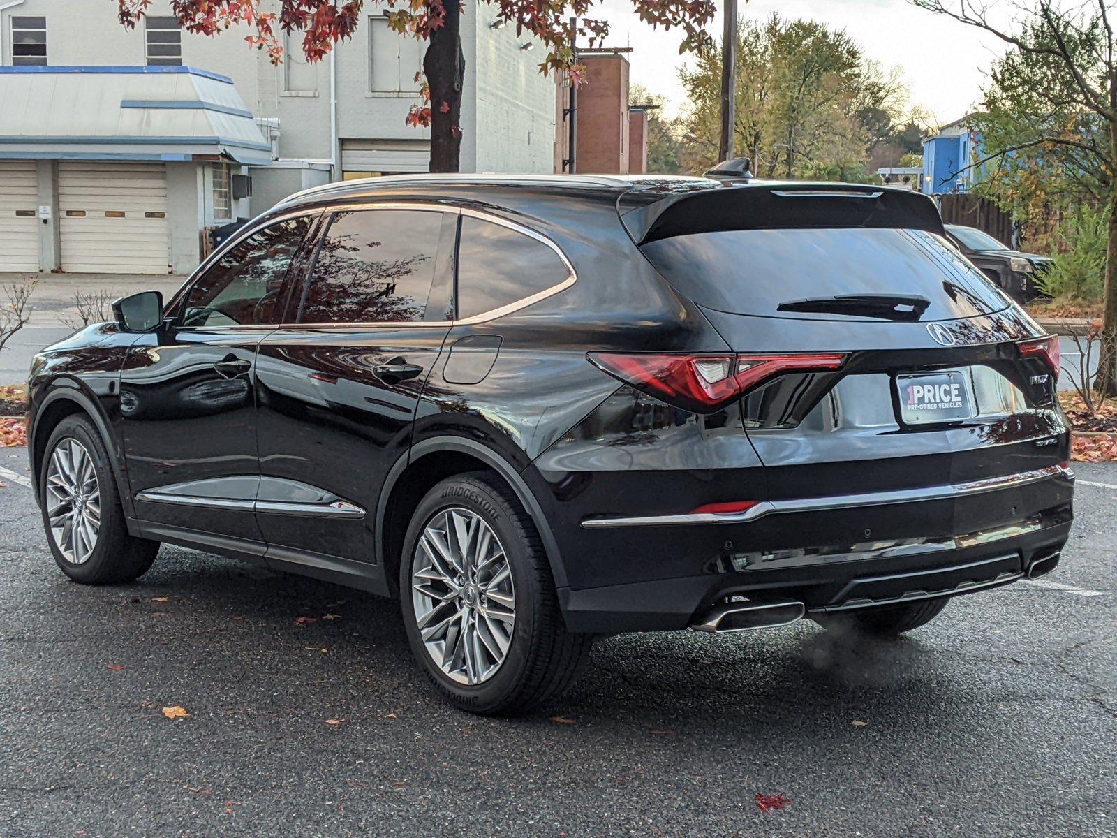
[[[491,536],[487,541],[484,527]],[[489,545],[487,552],[476,550],[474,574],[452,579],[458,563],[451,565],[437,550],[435,541],[452,553],[451,531],[469,533],[467,544]],[[460,549],[460,539],[455,544],[459,556],[470,554]],[[417,571],[423,574],[418,580]],[[486,472],[449,477],[419,502],[403,542],[400,603],[419,665],[450,704],[470,713],[510,715],[557,698],[589,658],[592,636],[566,631],[534,524],[512,491]],[[474,620],[474,628],[462,630],[462,620]],[[477,645],[458,642],[461,638],[475,638]],[[448,646],[454,654],[447,655]]]

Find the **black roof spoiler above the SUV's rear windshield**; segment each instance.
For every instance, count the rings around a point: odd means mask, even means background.
[[[621,221],[638,245],[699,232],[812,227],[892,227],[945,235],[935,202],[909,189],[754,180],[648,199],[634,190],[618,203]]]

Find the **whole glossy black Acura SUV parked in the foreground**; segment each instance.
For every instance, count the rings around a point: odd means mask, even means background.
[[[1058,344],[907,190],[337,183],[115,312],[31,370],[63,571],[170,542],[399,597],[475,712],[595,635],[895,635],[1071,523]]]

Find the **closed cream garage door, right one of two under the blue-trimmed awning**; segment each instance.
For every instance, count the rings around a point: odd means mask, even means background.
[[[63,270],[169,273],[162,163],[59,163]]]

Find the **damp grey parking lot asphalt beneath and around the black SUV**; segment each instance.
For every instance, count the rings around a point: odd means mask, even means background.
[[[1054,573],[903,640],[624,635],[512,720],[441,704],[388,600],[176,547],[74,584],[0,467],[3,838],[1117,836],[1117,466]]]

